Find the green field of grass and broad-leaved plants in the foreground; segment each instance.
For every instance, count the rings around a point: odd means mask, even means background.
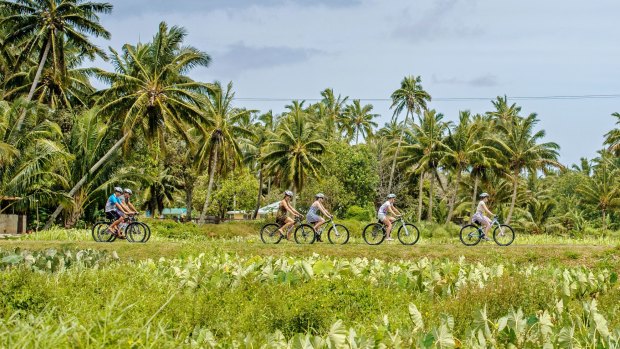
[[[300,246],[265,245],[257,226],[154,223],[146,244],[62,229],[0,241],[0,346],[620,345],[613,236]]]

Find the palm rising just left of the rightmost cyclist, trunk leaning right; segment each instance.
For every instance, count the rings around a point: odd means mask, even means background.
[[[469,111],[462,111],[459,115],[459,123],[448,130],[448,137],[442,143],[440,150],[443,164],[452,169],[456,174],[454,188],[448,202],[448,217],[446,224],[452,220],[454,203],[458,195],[461,183],[461,174],[469,168],[478,158],[484,157],[484,153],[492,149],[485,145],[476,123],[472,123]]]

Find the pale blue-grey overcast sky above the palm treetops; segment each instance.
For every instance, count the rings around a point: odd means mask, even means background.
[[[112,40],[148,41],[166,21],[211,55],[192,77],[233,81],[238,98],[317,99],[333,88],[392,117],[389,98],[421,75],[431,108],[492,108],[498,95],[620,94],[618,0],[108,0]],[[481,100],[446,101],[479,97]],[[620,98],[514,100],[535,112],[571,164],[593,157],[614,126]],[[286,101],[237,105],[281,112]]]

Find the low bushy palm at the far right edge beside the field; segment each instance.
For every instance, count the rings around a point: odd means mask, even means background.
[[[603,231],[607,231],[607,211],[620,207],[620,170],[614,166],[609,152],[603,150],[599,154],[594,160],[594,175],[583,175],[577,192],[582,195],[581,200],[601,210]]]

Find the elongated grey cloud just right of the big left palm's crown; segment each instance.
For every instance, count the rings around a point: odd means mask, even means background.
[[[239,42],[229,46],[225,52],[214,53],[211,68],[218,75],[238,76],[249,70],[305,62],[321,53],[310,48],[251,47]]]

